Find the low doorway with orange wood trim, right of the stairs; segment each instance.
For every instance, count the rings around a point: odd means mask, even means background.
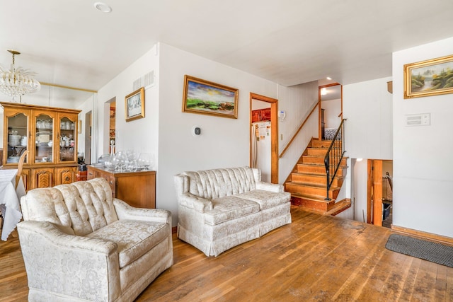
[[[367,223],[391,228],[393,161],[368,160]]]

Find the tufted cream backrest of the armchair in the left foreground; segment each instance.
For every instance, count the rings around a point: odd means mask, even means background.
[[[112,190],[103,178],[30,190],[21,198],[21,208],[24,220],[49,221],[78,236],[118,220]]]

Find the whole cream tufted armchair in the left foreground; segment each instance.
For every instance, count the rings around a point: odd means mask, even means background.
[[[21,207],[29,301],[133,301],[173,265],[171,213],[114,199],[103,178],[30,190]]]

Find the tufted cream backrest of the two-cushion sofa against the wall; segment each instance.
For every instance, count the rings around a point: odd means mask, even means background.
[[[188,191],[207,199],[240,194],[256,189],[259,170],[250,167],[187,171]]]

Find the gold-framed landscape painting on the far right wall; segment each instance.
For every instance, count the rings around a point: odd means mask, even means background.
[[[453,55],[404,65],[404,98],[453,93]]]

